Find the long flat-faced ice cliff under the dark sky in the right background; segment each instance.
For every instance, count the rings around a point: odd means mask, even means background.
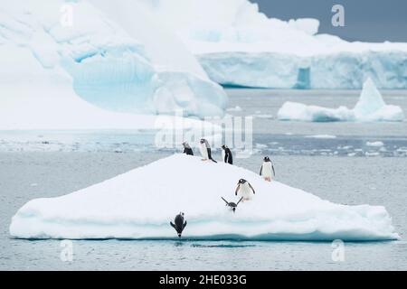
[[[138,0],[175,31],[222,85],[273,89],[407,89],[407,43],[346,42],[316,19],[289,22],[248,0]],[[176,8],[175,8],[176,7]]]

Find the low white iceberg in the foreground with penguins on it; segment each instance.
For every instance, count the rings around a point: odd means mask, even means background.
[[[237,182],[256,194],[236,213]],[[391,240],[392,219],[380,206],[321,200],[254,172],[175,154],[71,194],[31,200],[10,225],[14,238],[177,238],[169,221],[185,212],[188,239]]]

